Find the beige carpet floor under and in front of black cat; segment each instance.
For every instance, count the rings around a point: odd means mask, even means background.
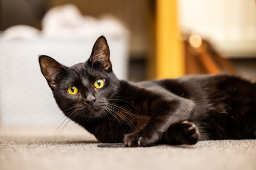
[[[0,169],[256,169],[256,140],[100,148],[80,128],[0,128]]]

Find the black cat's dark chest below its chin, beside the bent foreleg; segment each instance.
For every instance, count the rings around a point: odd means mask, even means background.
[[[123,142],[125,134],[143,129],[150,117],[122,108],[109,113],[104,120],[84,125],[100,142]]]

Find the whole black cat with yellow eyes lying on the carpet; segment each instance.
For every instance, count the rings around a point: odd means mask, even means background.
[[[227,76],[130,83],[112,71],[105,37],[85,63],[66,67],[40,56],[41,71],[64,114],[100,142],[155,143],[256,138],[256,84]]]

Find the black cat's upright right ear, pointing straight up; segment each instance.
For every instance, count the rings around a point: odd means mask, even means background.
[[[109,47],[104,36],[99,37],[93,45],[89,62],[92,65],[100,66],[106,71],[112,70],[112,65],[109,58]]]

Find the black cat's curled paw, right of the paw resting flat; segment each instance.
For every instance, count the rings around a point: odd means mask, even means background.
[[[188,121],[172,124],[165,136],[168,144],[195,144],[199,137],[198,127]]]

